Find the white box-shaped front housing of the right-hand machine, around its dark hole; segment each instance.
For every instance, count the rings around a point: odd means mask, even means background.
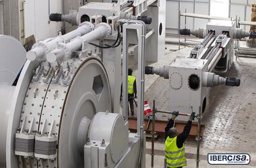
[[[207,104],[207,87],[203,87],[203,72],[207,72],[208,60],[177,57],[169,68],[170,85],[170,112],[179,111],[190,114],[199,113],[200,106],[202,114]],[[189,77],[197,75],[199,77],[199,87],[191,89],[189,87]],[[205,99],[205,103],[203,103]],[[204,104],[204,105],[203,105]],[[178,116],[177,120],[187,120],[186,116]]]

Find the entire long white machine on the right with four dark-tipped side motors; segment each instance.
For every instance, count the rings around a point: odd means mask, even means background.
[[[234,39],[253,36],[235,28],[232,21],[211,20],[206,29],[180,31],[182,35],[204,38],[201,44],[185,57],[177,57],[170,65],[146,67],[146,74],[157,74],[169,79],[170,112],[192,111],[203,115],[206,111],[209,87],[216,85],[239,86],[240,79],[220,77],[230,69],[234,57]],[[200,115],[200,116],[201,116]],[[179,116],[178,120],[187,120]]]

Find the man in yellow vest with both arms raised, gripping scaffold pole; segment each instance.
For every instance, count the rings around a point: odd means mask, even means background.
[[[195,112],[191,113],[189,121],[179,134],[178,130],[174,128],[174,120],[179,116],[178,111],[172,112],[172,118],[168,121],[165,128],[165,158],[166,165],[169,168],[178,167],[182,168],[187,165],[185,157],[185,140],[189,136],[191,130],[192,120],[195,120]]]

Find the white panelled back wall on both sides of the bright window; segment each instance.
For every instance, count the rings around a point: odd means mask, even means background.
[[[179,10],[181,13],[199,13],[210,15],[211,0],[166,0],[166,34],[178,34],[179,29]],[[216,1],[216,0],[212,0]],[[251,21],[251,3],[256,0],[228,0],[228,17],[241,20]],[[197,19],[187,17],[187,28],[197,29],[205,28],[207,19]],[[181,17],[181,28],[185,28],[185,17]],[[249,26],[241,26],[241,28],[249,31]]]

